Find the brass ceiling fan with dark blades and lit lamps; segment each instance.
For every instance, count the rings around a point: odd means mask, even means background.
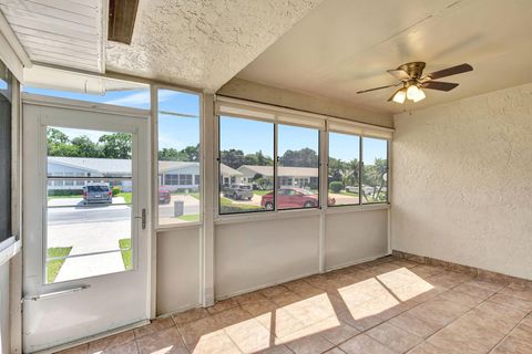
[[[405,100],[411,100],[413,102],[419,102],[426,97],[422,88],[438,90],[438,91],[451,91],[457,87],[457,83],[452,82],[442,82],[433,81],[437,79],[451,76],[456,74],[466,73],[472,71],[473,66],[469,64],[460,64],[457,66],[447,67],[433,73],[423,75],[423,69],[426,63],[423,62],[411,62],[406,63],[397,67],[396,70],[388,70],[387,72],[399,80],[399,83],[393,85],[380,86],[369,90],[358,91],[357,93],[366,93],[376,90],[382,90],[388,87],[396,87],[402,85],[401,88],[397,90],[388,102],[393,101],[397,103],[405,103]]]

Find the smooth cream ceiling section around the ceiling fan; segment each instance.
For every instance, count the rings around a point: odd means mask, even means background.
[[[326,0],[237,76],[397,113],[393,88],[356,91],[392,84],[386,70],[410,61],[474,71],[440,79],[460,85],[407,108],[532,82],[531,35],[530,0]]]

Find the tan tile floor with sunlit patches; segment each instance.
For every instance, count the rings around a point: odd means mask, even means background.
[[[532,287],[387,257],[62,353],[531,354]]]

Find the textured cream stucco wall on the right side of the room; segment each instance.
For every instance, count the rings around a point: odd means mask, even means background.
[[[393,249],[532,279],[532,84],[395,125]]]

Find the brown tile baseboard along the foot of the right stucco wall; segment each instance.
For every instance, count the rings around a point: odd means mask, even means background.
[[[398,250],[392,250],[392,256],[396,258],[402,258],[402,259],[421,263],[421,264],[434,266],[434,267],[444,268],[447,270],[451,270],[460,273],[471,274],[482,280],[497,281],[497,282],[502,282],[507,284],[520,284],[520,285],[532,287],[532,279],[512,277],[512,275],[498,273],[498,272],[493,272],[493,271],[477,268],[477,267],[463,266],[463,264],[453,263],[453,262],[444,261],[437,258],[419,256],[419,254],[408,253],[408,252],[398,251]]]

